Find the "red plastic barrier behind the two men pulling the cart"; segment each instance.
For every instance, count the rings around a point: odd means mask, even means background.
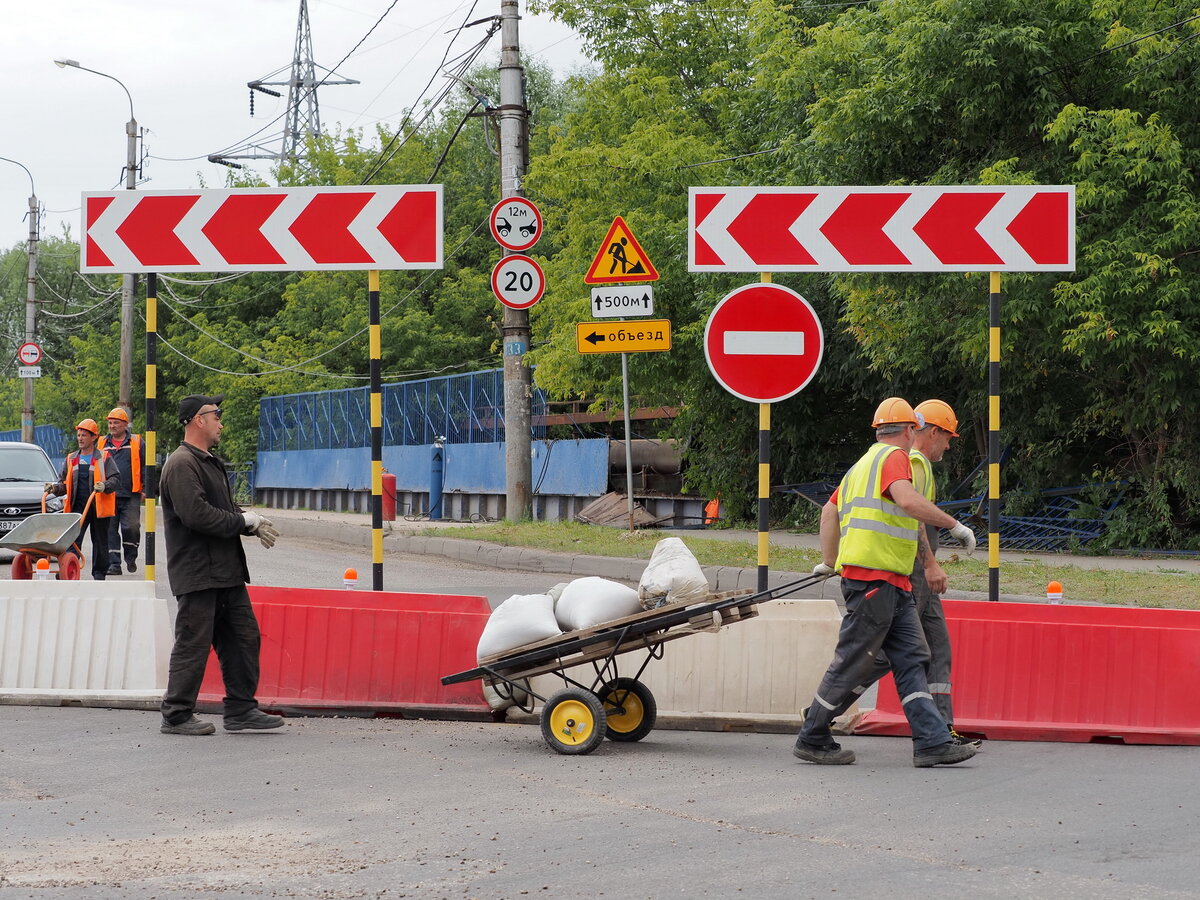
[[[1200,612],[946,600],[954,726],[997,740],[1200,744]],[[866,734],[908,734],[880,682]]]

